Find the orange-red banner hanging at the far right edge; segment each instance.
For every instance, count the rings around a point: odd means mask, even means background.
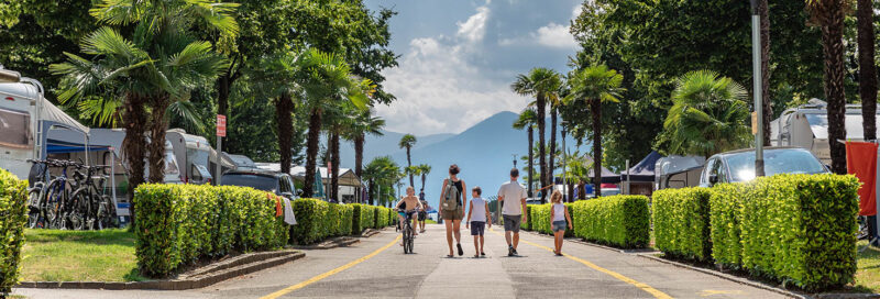
[[[871,142],[846,143],[847,173],[861,182],[859,215],[877,214],[877,146]]]

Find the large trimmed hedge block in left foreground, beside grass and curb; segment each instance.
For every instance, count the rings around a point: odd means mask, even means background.
[[[202,257],[273,250],[287,241],[276,200],[242,187],[144,184],[138,206],[135,255],[141,273],[164,277]]]

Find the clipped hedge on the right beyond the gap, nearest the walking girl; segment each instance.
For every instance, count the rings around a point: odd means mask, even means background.
[[[645,196],[601,197],[579,201],[573,210],[579,237],[626,248],[648,245],[650,215]]]

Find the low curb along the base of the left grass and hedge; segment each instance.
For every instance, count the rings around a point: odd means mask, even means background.
[[[21,281],[15,288],[108,289],[108,290],[186,290],[204,288],[230,278],[248,275],[305,257],[299,251],[245,254],[183,274],[175,279],[147,281]]]

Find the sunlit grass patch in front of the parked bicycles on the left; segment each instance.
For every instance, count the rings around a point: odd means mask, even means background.
[[[140,281],[134,233],[25,230],[24,281]]]

